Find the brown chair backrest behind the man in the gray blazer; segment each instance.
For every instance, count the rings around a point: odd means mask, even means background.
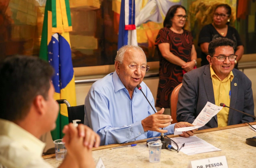
[[[177,103],[178,103],[178,94],[179,94],[179,89],[181,88],[182,83],[178,84],[178,86],[176,86],[174,88],[174,90],[172,91],[171,94],[171,99],[170,99],[170,103],[171,103],[171,116],[172,116],[172,124],[174,123],[178,123],[176,117],[177,117]]]

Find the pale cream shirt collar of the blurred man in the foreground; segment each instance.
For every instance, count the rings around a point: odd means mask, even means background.
[[[17,124],[0,119],[0,135],[6,135],[13,141],[19,142],[20,146],[37,156],[42,156],[45,144],[34,135],[24,130]]]

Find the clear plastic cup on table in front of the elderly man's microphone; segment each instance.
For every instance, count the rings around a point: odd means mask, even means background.
[[[162,143],[155,144],[155,141],[148,142],[149,162],[158,163],[161,157]]]

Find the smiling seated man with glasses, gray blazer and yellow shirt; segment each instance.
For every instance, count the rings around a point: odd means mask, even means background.
[[[234,69],[237,55],[234,42],[216,38],[209,43],[207,60],[210,65],[192,70],[183,76],[178,95],[177,120],[193,123],[207,101],[219,106],[224,103],[234,109],[254,115],[251,81]],[[223,108],[199,130],[253,122],[250,116]]]

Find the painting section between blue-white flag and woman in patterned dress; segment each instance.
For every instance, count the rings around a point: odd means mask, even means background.
[[[135,0],[135,24],[138,45],[147,55],[147,61],[158,61],[155,51],[155,38],[163,27],[168,9],[173,5],[181,5],[180,0]]]

